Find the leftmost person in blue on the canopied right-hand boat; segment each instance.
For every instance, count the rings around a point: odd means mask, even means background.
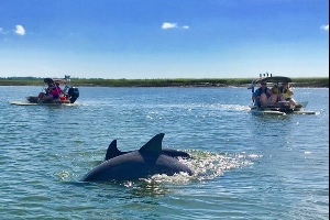
[[[277,100],[277,95],[267,87],[266,81],[261,81],[261,87],[257,88],[253,94],[253,101],[257,107],[272,106]]]

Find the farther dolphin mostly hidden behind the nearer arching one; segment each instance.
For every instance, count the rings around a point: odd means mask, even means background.
[[[117,140],[113,140],[108,146],[105,161],[108,161],[110,158],[113,158],[116,156],[127,154],[127,153],[130,153],[130,152],[132,152],[132,151],[129,151],[129,152],[119,151],[118,147],[117,147]],[[174,150],[174,148],[162,148],[162,152],[163,152],[163,154],[166,154],[168,156],[176,157],[176,158],[177,157],[191,158],[191,156],[188,153],[183,152],[183,151],[177,151],[177,150]]]

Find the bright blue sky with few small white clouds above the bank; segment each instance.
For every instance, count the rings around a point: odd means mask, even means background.
[[[329,0],[0,0],[0,77],[329,76]]]

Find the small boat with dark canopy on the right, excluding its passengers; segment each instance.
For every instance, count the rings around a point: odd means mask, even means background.
[[[258,78],[253,79],[251,86],[248,89],[251,89],[252,97],[255,92],[255,86],[260,82],[266,82],[267,87],[277,87],[282,82],[292,82],[292,79],[284,76],[272,76],[268,74],[260,75]],[[252,105],[250,106],[251,112],[254,114],[275,114],[275,116],[285,116],[288,113],[296,114],[315,114],[315,111],[306,111],[304,108],[307,107],[308,101],[296,102],[295,105],[289,101],[276,101],[273,103],[261,105],[252,99]]]

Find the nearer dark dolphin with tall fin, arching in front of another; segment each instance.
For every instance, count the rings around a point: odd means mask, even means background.
[[[81,182],[134,180],[155,174],[173,176],[182,172],[193,175],[188,166],[162,151],[164,135],[164,133],[156,134],[138,151],[109,156],[109,160],[87,173]]]

